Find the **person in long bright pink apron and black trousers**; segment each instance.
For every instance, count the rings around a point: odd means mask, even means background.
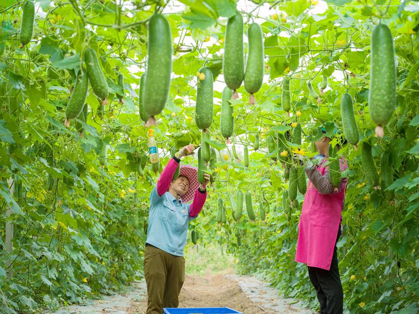
[[[308,266],[308,275],[320,302],[320,314],[342,314],[343,289],[336,242],[343,232],[341,213],[347,179],[343,178],[337,189],[330,183],[327,166],[330,141],[326,136],[316,141],[319,155],[305,166],[309,181],[301,211],[295,261]],[[341,172],[347,169],[344,158],[340,160],[340,166]]]

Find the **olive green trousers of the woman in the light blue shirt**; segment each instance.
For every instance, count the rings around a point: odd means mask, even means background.
[[[185,258],[167,253],[150,244],[144,251],[147,314],[162,314],[163,308],[177,308],[185,281]]]

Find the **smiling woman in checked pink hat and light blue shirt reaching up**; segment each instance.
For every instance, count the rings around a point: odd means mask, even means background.
[[[201,212],[207,199],[206,182],[199,184],[197,169],[180,166],[180,159],[193,154],[193,145],[179,150],[161,173],[150,194],[149,226],[144,250],[144,277],[147,283],[147,314],[162,314],[163,308],[176,308],[185,280],[185,248],[188,224]],[[190,201],[193,202],[188,204]]]

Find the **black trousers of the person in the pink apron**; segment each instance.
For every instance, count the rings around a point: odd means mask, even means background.
[[[339,226],[338,237],[341,236]],[[308,276],[317,292],[320,302],[320,314],[343,314],[343,289],[338,268],[338,252],[335,243],[330,270],[308,267]]]

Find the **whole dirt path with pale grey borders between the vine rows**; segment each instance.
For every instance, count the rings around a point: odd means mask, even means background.
[[[128,291],[103,296],[92,305],[72,305],[54,314],[145,314],[147,287],[134,282]],[[186,275],[180,293],[181,308],[229,307],[244,314],[312,314],[293,299],[278,296],[278,290],[252,276],[229,274]]]

